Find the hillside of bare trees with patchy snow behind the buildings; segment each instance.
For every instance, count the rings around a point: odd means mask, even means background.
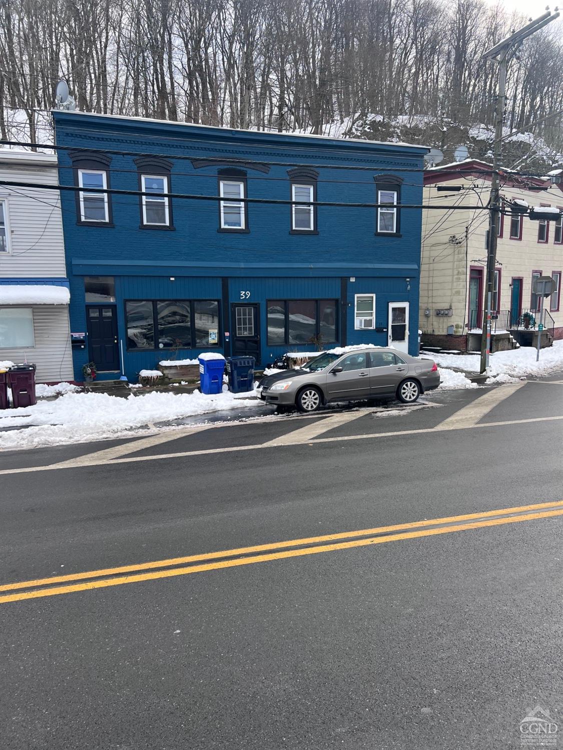
[[[480,0],[2,0],[0,133],[35,139],[47,116],[35,110],[53,106],[65,77],[79,110],[366,137],[406,129],[449,149],[448,131],[492,121],[496,71],[481,55],[522,20]],[[553,149],[546,163],[563,150],[554,26],[525,42],[508,77],[507,127],[535,123]]]

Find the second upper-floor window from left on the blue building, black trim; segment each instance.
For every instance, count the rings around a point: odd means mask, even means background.
[[[140,156],[134,160],[139,175],[141,229],[173,229],[170,193],[172,162],[159,156]],[[147,193],[147,194],[145,194]]]

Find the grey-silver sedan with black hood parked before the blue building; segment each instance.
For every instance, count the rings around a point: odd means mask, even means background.
[[[439,385],[438,368],[430,359],[358,347],[340,355],[324,352],[303,367],[263,377],[257,392],[268,404],[311,413],[333,401],[380,396],[414,404],[421,393]]]

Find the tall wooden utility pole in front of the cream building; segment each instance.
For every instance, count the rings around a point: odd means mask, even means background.
[[[489,367],[489,354],[491,351],[491,305],[492,294],[495,289],[495,267],[496,267],[496,247],[498,239],[498,226],[500,226],[501,216],[501,196],[498,181],[498,169],[501,165],[502,154],[502,127],[504,124],[504,107],[506,99],[506,71],[509,58],[516,52],[526,37],[531,36],[539,31],[543,26],[555,21],[559,17],[558,9],[552,13],[547,10],[534,21],[523,26],[519,31],[510,34],[509,37],[502,40],[495,46],[488,49],[483,57],[498,65],[498,95],[496,101],[495,115],[495,143],[492,155],[492,175],[491,175],[491,194],[489,199],[489,242],[487,243],[486,256],[486,293],[483,295],[483,321],[481,328],[481,366],[480,371],[484,373]],[[500,299],[500,290],[497,290],[497,299]]]

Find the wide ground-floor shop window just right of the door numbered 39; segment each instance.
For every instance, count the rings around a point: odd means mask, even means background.
[[[336,299],[270,300],[266,308],[269,346],[338,342]]]

